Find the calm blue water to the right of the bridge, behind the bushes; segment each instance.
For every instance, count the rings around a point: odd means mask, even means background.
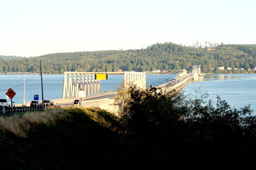
[[[256,111],[255,74],[206,74],[203,81],[189,83],[183,91],[191,95],[195,95],[195,91],[207,92],[213,102],[218,95],[231,107],[250,104],[254,113]]]

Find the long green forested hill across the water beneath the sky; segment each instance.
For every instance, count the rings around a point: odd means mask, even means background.
[[[256,67],[256,45],[210,44],[208,47],[183,46],[174,43],[157,43],[145,49],[109,50],[47,54],[39,57],[4,60],[0,59],[0,72],[38,71],[29,64],[42,61],[46,73],[64,71],[111,72],[124,71],[190,70],[201,65],[204,73],[253,72]],[[225,67],[219,70],[218,67]],[[232,69],[226,70],[227,67]],[[244,68],[244,70],[233,68]]]

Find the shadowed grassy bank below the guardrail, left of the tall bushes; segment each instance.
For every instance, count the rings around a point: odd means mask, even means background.
[[[54,109],[0,118],[0,169],[86,169],[121,164],[118,119],[102,110]],[[99,164],[100,163],[100,164]]]

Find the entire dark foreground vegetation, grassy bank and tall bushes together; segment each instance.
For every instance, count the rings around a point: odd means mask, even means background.
[[[0,169],[237,169],[254,166],[256,117],[219,97],[118,91],[118,116],[99,108],[0,118]],[[220,168],[221,167],[221,168]]]

